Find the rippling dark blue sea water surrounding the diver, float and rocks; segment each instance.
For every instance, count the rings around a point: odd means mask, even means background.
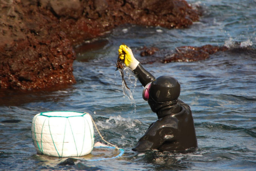
[[[204,10],[200,21],[189,28],[125,25],[77,47],[74,85],[36,93],[1,91],[0,121],[14,120],[0,122],[1,170],[256,170],[256,1],[188,2]],[[131,151],[157,117],[133,76],[128,86],[134,101],[124,96],[121,76],[115,71],[122,43],[138,59],[142,59],[138,49],[144,45],[160,50],[205,44],[229,47],[204,61],[144,65],[156,77],[169,74],[179,80],[180,98],[193,112],[195,152]],[[65,159],[36,154],[32,118],[55,110],[91,113],[105,139],[124,148],[124,155],[111,161],[85,161],[118,154],[95,149],[75,165],[63,166],[58,164]],[[96,132],[95,139],[100,140]]]

